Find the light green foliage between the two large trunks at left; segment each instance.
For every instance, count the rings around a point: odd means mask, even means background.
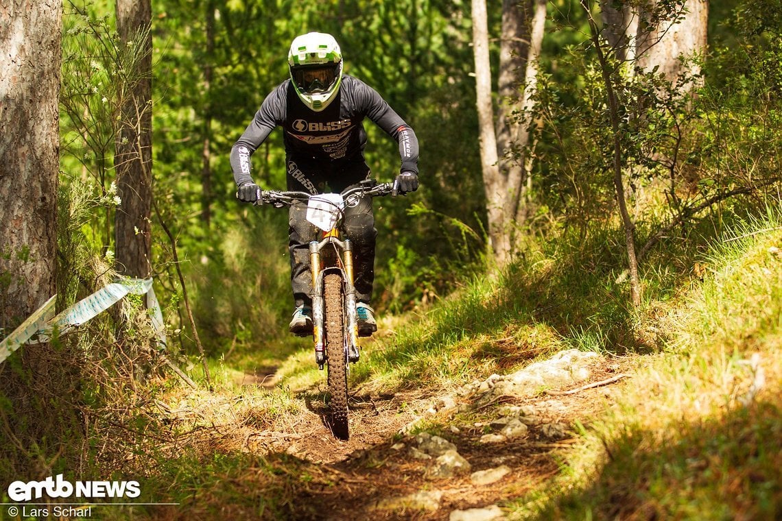
[[[61,182],[96,193],[103,209],[84,221],[103,253],[113,241],[113,209],[120,205],[114,184],[113,155],[122,124],[122,106],[139,78],[145,33],[121,43],[113,20],[95,5],[69,2],[63,16],[63,67],[60,87]]]

